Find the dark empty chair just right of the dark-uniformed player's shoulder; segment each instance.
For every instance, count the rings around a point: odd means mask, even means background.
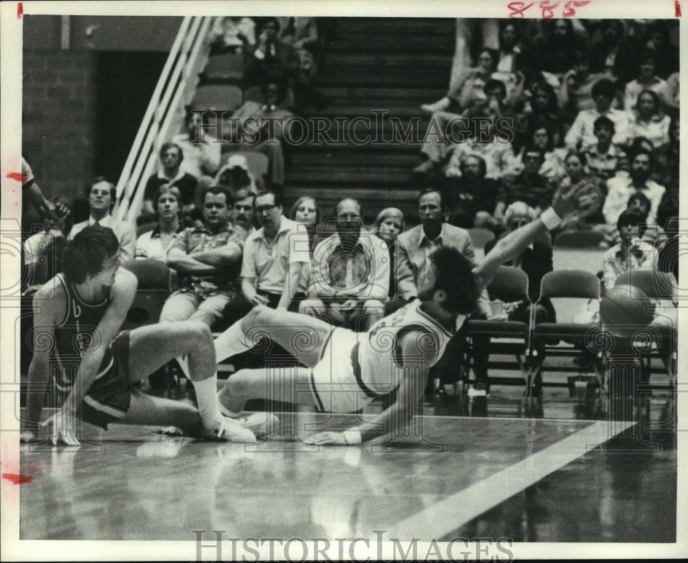
[[[122,329],[155,324],[160,320],[162,306],[177,287],[177,273],[158,260],[131,260],[122,264],[138,279],[136,297],[127,312]]]

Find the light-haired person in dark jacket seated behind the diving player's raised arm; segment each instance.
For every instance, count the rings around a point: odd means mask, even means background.
[[[535,210],[529,207],[524,202],[514,202],[504,213],[507,231],[503,236],[513,233],[516,229],[528,224],[535,219]],[[490,241],[485,245],[485,253],[492,250],[497,241]],[[528,297],[530,301],[535,303],[540,295],[540,283],[545,274],[554,269],[552,265],[552,246],[548,240],[537,240],[531,246],[526,248],[523,253],[505,266],[514,266],[524,270],[528,275]],[[515,303],[505,304],[504,312],[506,318],[499,317],[490,310],[486,315],[488,320],[508,320],[519,321],[530,324],[531,309],[535,307],[535,324],[556,322],[557,316],[555,308],[552,306],[550,299],[542,299],[539,304],[531,305],[528,301],[517,301]],[[544,355],[539,351],[538,356]],[[488,361],[490,358],[490,339],[489,337],[473,337],[473,372],[475,374],[476,388],[484,387],[486,392],[490,392],[490,383],[488,376]],[[539,381],[535,382],[536,388],[539,387]]]

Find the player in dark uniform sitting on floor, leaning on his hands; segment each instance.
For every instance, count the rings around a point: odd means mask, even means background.
[[[64,273],[36,293],[34,356],[21,440],[38,440],[43,399],[52,383],[51,398],[64,402],[41,427],[50,429],[54,445],[79,445],[79,421],[105,429],[109,423],[175,425],[199,438],[254,442],[248,428],[219,412],[213,338],[204,323],[119,332],[137,279],[118,269],[118,253],[111,229],[87,226],[65,248]],[[130,387],[180,352],[188,354],[197,410]]]

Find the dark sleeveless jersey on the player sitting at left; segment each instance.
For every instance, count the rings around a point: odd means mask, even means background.
[[[65,288],[67,312],[65,319],[55,328],[54,357],[59,361],[60,368],[52,370],[52,379],[58,390],[69,392],[83,354],[88,348],[100,344],[100,335],[96,328],[110,304],[110,296],[107,295],[102,303],[88,304],[79,297],[74,285],[67,282],[63,274],[56,277]],[[98,368],[96,379],[111,368],[110,345],[109,342],[105,343],[107,350]]]

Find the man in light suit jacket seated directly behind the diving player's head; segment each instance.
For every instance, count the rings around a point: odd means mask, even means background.
[[[420,225],[399,235],[399,261],[406,262],[413,272],[416,287],[421,287],[428,275],[434,275],[429,268],[428,256],[440,246],[456,248],[462,255],[475,263],[475,249],[471,236],[465,229],[443,222],[442,193],[437,189],[425,189],[418,196],[418,215]],[[402,264],[403,267],[403,264]],[[486,293],[478,300],[477,314],[484,315],[489,310]],[[429,382],[433,381],[436,391],[443,392],[442,384],[457,381],[459,373],[455,366],[461,365],[464,332],[459,330],[451,339],[444,356],[432,369]],[[437,381],[439,380],[439,381]]]

